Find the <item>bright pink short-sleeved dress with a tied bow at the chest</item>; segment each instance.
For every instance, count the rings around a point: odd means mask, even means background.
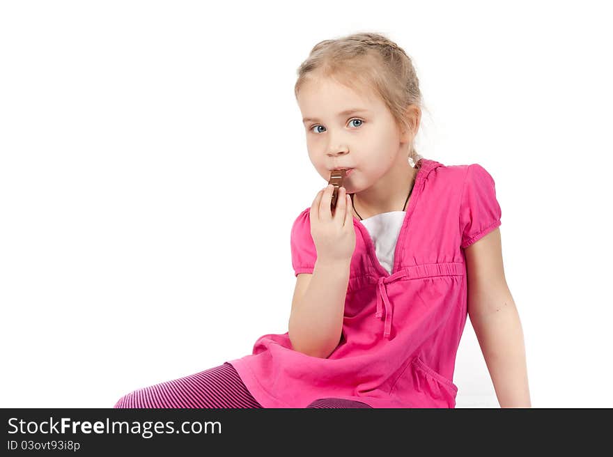
[[[464,248],[500,225],[495,183],[479,164],[422,158],[398,234],[391,274],[357,217],[343,330],[329,357],[293,350],[288,332],[265,334],[229,361],[264,408],[346,398],[373,408],[455,408],[453,371],[467,318]],[[309,212],[290,236],[295,275],[312,273]],[[288,308],[289,309],[289,308]]]

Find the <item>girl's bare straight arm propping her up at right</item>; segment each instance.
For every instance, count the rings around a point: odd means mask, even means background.
[[[501,408],[530,408],[522,325],[506,284],[500,229],[465,249],[468,314]]]

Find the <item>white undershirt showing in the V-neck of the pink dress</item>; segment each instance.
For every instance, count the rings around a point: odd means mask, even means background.
[[[391,268],[394,266],[396,241],[405,215],[405,211],[382,212],[360,221],[366,227],[368,234],[371,235],[379,263],[389,274],[391,274]]]

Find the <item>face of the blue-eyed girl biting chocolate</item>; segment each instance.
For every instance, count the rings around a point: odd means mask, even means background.
[[[360,95],[334,79],[309,78],[297,102],[309,158],[326,182],[332,169],[352,168],[343,182],[352,194],[377,183],[399,160],[406,162],[407,138],[375,95]]]

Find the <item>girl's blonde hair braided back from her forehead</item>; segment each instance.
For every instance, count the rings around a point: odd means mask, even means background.
[[[405,117],[408,107],[415,104],[424,109],[411,58],[380,33],[353,33],[318,42],[298,67],[296,98],[311,74],[331,77],[353,90],[370,89],[385,102],[401,132],[410,129]],[[421,159],[414,144],[410,146],[410,157],[415,163]]]

